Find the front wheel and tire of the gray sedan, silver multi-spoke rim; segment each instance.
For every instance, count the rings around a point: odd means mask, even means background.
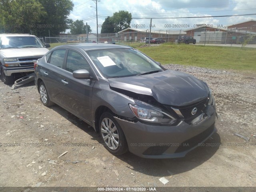
[[[114,118],[114,114],[104,112],[99,121],[100,137],[104,147],[113,155],[121,155],[128,151],[124,132]]]

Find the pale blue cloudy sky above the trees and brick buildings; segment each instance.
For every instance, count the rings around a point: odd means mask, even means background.
[[[96,33],[96,3],[93,0],[72,0],[73,11],[69,18],[84,20]],[[92,6],[92,7],[91,7]],[[254,19],[251,16],[210,17],[210,18],[174,18],[197,16],[224,16],[256,14],[256,0],[100,0],[97,3],[98,32],[107,16],[125,10],[132,14],[132,28],[151,30],[186,30],[196,24],[225,27]],[[174,18],[174,19],[170,19]]]

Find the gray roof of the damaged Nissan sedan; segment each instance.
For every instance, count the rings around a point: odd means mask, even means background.
[[[98,50],[98,49],[120,49],[120,48],[132,48],[129,46],[122,46],[116,44],[108,44],[108,43],[79,43],[79,44],[70,44],[70,45],[60,45],[55,47],[56,48],[81,48],[85,51],[88,50]]]

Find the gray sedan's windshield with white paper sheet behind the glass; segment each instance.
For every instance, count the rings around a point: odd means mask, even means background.
[[[130,48],[90,50],[87,53],[106,78],[136,76],[163,71],[152,59]]]

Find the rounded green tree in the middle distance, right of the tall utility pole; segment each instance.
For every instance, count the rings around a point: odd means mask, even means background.
[[[132,14],[123,10],[114,12],[113,16],[110,18],[110,22],[114,24],[114,32],[119,32],[130,27],[131,21]]]

